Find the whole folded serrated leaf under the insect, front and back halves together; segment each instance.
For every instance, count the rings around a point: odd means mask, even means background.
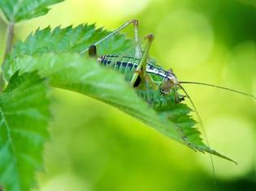
[[[93,42],[106,36],[107,33],[102,28],[96,29],[94,25],[87,24],[76,28],[61,29],[58,27],[54,30],[50,28],[37,30],[24,42],[18,41],[14,46],[12,53],[7,57],[4,76],[9,79],[16,70],[23,72],[38,70],[39,74],[50,78],[50,84],[54,87],[78,91],[102,100],[137,117],[145,124],[158,129],[169,138],[184,143],[195,151],[206,151],[225,158],[210,150],[202,142],[200,133],[194,127],[195,121],[189,116],[191,110],[187,105],[174,104],[171,97],[168,100],[161,97],[158,92],[150,90],[150,93],[147,94],[147,97],[150,95],[150,100],[144,98],[148,103],[154,102],[154,104],[150,104],[151,109],[149,109],[149,106],[143,106],[145,103],[138,100],[134,90],[123,82],[123,76],[110,70],[103,70],[93,61],[89,61],[85,57],[80,58],[78,54],[67,54],[67,52],[80,53]],[[98,53],[99,55],[124,53],[131,45],[131,40],[118,35],[98,45]],[[41,56],[43,53],[47,54]],[[59,53],[65,54],[58,56]],[[91,62],[93,64],[90,64]],[[90,79],[86,82],[83,76],[87,74]],[[140,91],[138,93],[141,94]],[[168,100],[168,103],[159,105],[155,103],[156,100],[161,101],[161,99]],[[155,111],[157,111],[157,115]],[[164,123],[165,125],[163,125]]]

